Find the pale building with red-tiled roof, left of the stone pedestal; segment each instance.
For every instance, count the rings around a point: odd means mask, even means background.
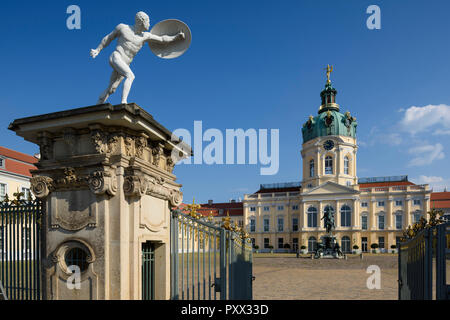
[[[24,199],[30,193],[31,170],[36,170],[37,157],[30,156],[5,147],[0,147],[0,200],[8,195],[14,198],[14,193],[23,192]]]

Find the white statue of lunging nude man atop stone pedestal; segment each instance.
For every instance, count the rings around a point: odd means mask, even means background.
[[[157,36],[146,32],[149,28],[150,19],[148,15],[140,11],[136,14],[134,26],[119,24],[110,34],[103,38],[97,49],[91,49],[91,56],[95,58],[103,48],[117,38],[116,50],[109,57],[109,64],[114,70],[109,80],[109,86],[100,96],[98,104],[105,103],[106,99],[116,91],[124,78],[122,103],[127,103],[131,84],[134,80],[134,73],[130,69],[130,64],[146,42],[158,41],[160,43],[168,43],[185,38],[183,32],[179,32],[174,36]]]

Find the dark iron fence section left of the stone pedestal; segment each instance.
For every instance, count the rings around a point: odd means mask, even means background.
[[[40,200],[0,202],[0,281],[9,300],[41,299],[42,208]]]

